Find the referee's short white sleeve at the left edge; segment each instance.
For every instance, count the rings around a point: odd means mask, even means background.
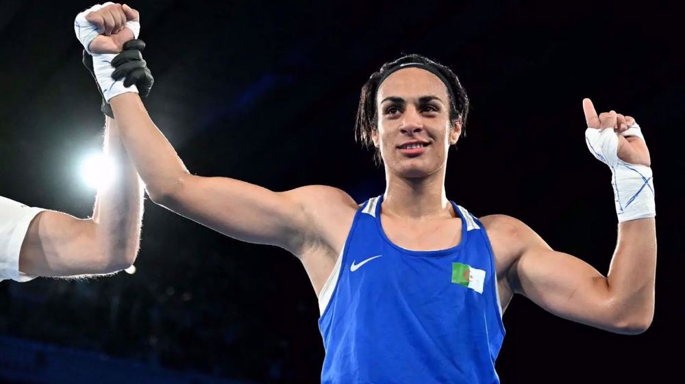
[[[44,210],[0,196],[0,281],[24,282],[36,278],[19,270],[19,251],[31,220]]]

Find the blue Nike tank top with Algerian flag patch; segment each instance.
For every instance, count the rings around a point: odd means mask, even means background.
[[[499,383],[505,331],[483,225],[451,202],[462,220],[460,243],[410,251],[385,235],[382,200],[358,209],[322,290],[332,293],[319,319],[321,382]]]

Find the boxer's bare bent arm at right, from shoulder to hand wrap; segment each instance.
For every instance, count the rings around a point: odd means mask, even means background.
[[[653,218],[619,225],[606,277],[585,261],[556,252],[532,229],[508,218],[521,253],[510,285],[562,318],[615,333],[642,333],[654,313],[656,229]]]

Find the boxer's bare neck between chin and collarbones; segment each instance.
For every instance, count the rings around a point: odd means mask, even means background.
[[[455,216],[445,194],[445,167],[427,177],[412,179],[393,175],[386,168],[386,180],[384,214],[416,220]]]

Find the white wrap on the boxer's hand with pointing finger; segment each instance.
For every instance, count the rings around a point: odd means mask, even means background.
[[[645,140],[640,126],[634,123],[623,136]],[[654,183],[651,168],[619,159],[619,136],[613,129],[588,128],[585,139],[590,152],[611,168],[614,203],[619,222],[656,216]]]

